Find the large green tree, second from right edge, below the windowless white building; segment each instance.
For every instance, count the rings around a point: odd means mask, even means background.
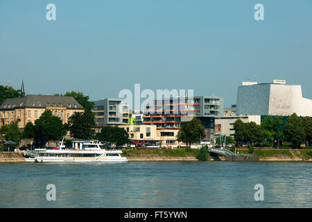
[[[298,117],[296,113],[288,117],[284,126],[283,135],[284,139],[291,142],[294,147],[300,147],[301,144],[304,144],[306,134],[304,132],[302,119]]]

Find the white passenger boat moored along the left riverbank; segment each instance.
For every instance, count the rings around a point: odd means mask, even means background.
[[[62,141],[63,142],[63,141]],[[45,150],[35,153],[35,157],[26,162],[126,162],[121,157],[122,151],[101,149],[97,141],[73,141],[72,148],[65,148],[63,143],[59,149]]]

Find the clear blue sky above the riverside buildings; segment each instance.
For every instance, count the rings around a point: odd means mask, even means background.
[[[56,21],[46,20],[55,3]],[[265,21],[254,20],[263,3]],[[312,99],[311,0],[0,0],[0,85],[26,94],[194,89],[236,103],[241,81],[285,79]]]

